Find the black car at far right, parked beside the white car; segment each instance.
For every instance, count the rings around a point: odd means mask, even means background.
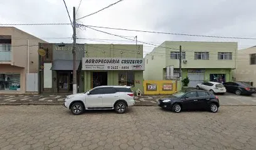
[[[253,88],[249,84],[240,82],[227,82],[223,83],[225,88],[230,93],[235,93],[237,95],[252,95],[256,93],[256,88]]]

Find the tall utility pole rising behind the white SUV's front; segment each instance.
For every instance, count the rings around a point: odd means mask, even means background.
[[[75,23],[75,7],[73,7],[73,94],[77,93],[77,68],[76,68],[76,54],[75,50],[77,42],[77,32],[76,32],[76,23]]]

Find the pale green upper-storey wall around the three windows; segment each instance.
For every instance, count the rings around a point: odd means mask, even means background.
[[[187,63],[182,63],[182,68],[235,68],[237,56],[237,42],[178,42],[166,41],[167,66],[174,65],[179,68],[179,59],[171,59],[171,51],[179,51],[182,46],[186,53]],[[209,52],[209,60],[195,60],[195,52]],[[218,52],[232,53],[232,60],[218,60]]]

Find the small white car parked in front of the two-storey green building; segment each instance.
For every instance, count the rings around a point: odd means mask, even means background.
[[[203,89],[205,91],[210,91],[211,93],[226,93],[227,90],[225,86],[221,83],[216,82],[206,82],[206,83],[200,83],[196,86],[196,89]]]

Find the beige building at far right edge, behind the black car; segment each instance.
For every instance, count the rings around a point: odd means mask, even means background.
[[[233,71],[235,81],[256,86],[256,46],[238,51],[237,69]]]

